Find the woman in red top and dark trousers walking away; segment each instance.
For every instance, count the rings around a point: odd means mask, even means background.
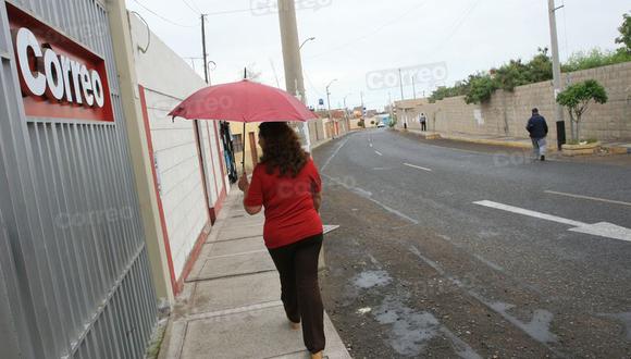
[[[293,329],[302,324],[305,346],[311,358],[324,350],[324,309],[318,284],[318,258],[322,248],[320,174],[298,136],[284,122],[259,126],[263,149],[251,184],[239,180],[244,208],[257,214],[264,207],[263,239],[281,277],[283,306]]]

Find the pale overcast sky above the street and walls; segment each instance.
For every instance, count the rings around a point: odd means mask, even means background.
[[[615,49],[614,39],[628,0],[557,0],[561,59],[576,51]],[[248,66],[264,84],[284,88],[276,0],[127,0],[127,8],[183,58],[201,57],[199,12],[208,13],[209,60],[216,63],[212,82],[234,82]],[[400,99],[400,89],[369,89],[367,74],[445,63],[447,85],[509,59],[529,59],[549,47],[546,0],[296,0],[309,103],[383,108]],[[153,13],[152,13],[153,12]],[[201,60],[189,60],[202,72]],[[275,71],[274,71],[275,70]],[[276,81],[277,78],[277,81]],[[431,84],[417,84],[417,96]],[[412,97],[412,86],[404,89]]]

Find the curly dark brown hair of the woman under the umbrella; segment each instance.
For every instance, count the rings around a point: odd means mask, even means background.
[[[259,136],[263,139],[260,163],[268,174],[279,169],[281,177],[296,177],[309,161],[310,154],[302,150],[298,135],[287,123],[264,122],[259,126]]]

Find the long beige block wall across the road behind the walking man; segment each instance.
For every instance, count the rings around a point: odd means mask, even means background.
[[[596,79],[607,89],[606,104],[592,104],[583,115],[582,138],[606,141],[631,139],[631,63],[604,66],[564,74],[566,84]],[[404,127],[404,109],[409,128],[420,128],[420,113],[428,116],[428,129],[446,134],[472,134],[528,138],[525,122],[531,109],[536,107],[548,120],[549,139],[556,141],[555,103],[552,82],[521,86],[514,92],[499,90],[491,101],[467,104],[463,97],[447,98],[436,103],[425,99],[397,102],[399,121]],[[570,136],[569,116],[566,113],[566,132]]]

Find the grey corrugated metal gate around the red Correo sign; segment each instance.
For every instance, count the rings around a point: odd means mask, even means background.
[[[107,10],[10,3],[104,59],[114,122],[25,116],[0,0],[0,357],[141,358],[157,305]]]

